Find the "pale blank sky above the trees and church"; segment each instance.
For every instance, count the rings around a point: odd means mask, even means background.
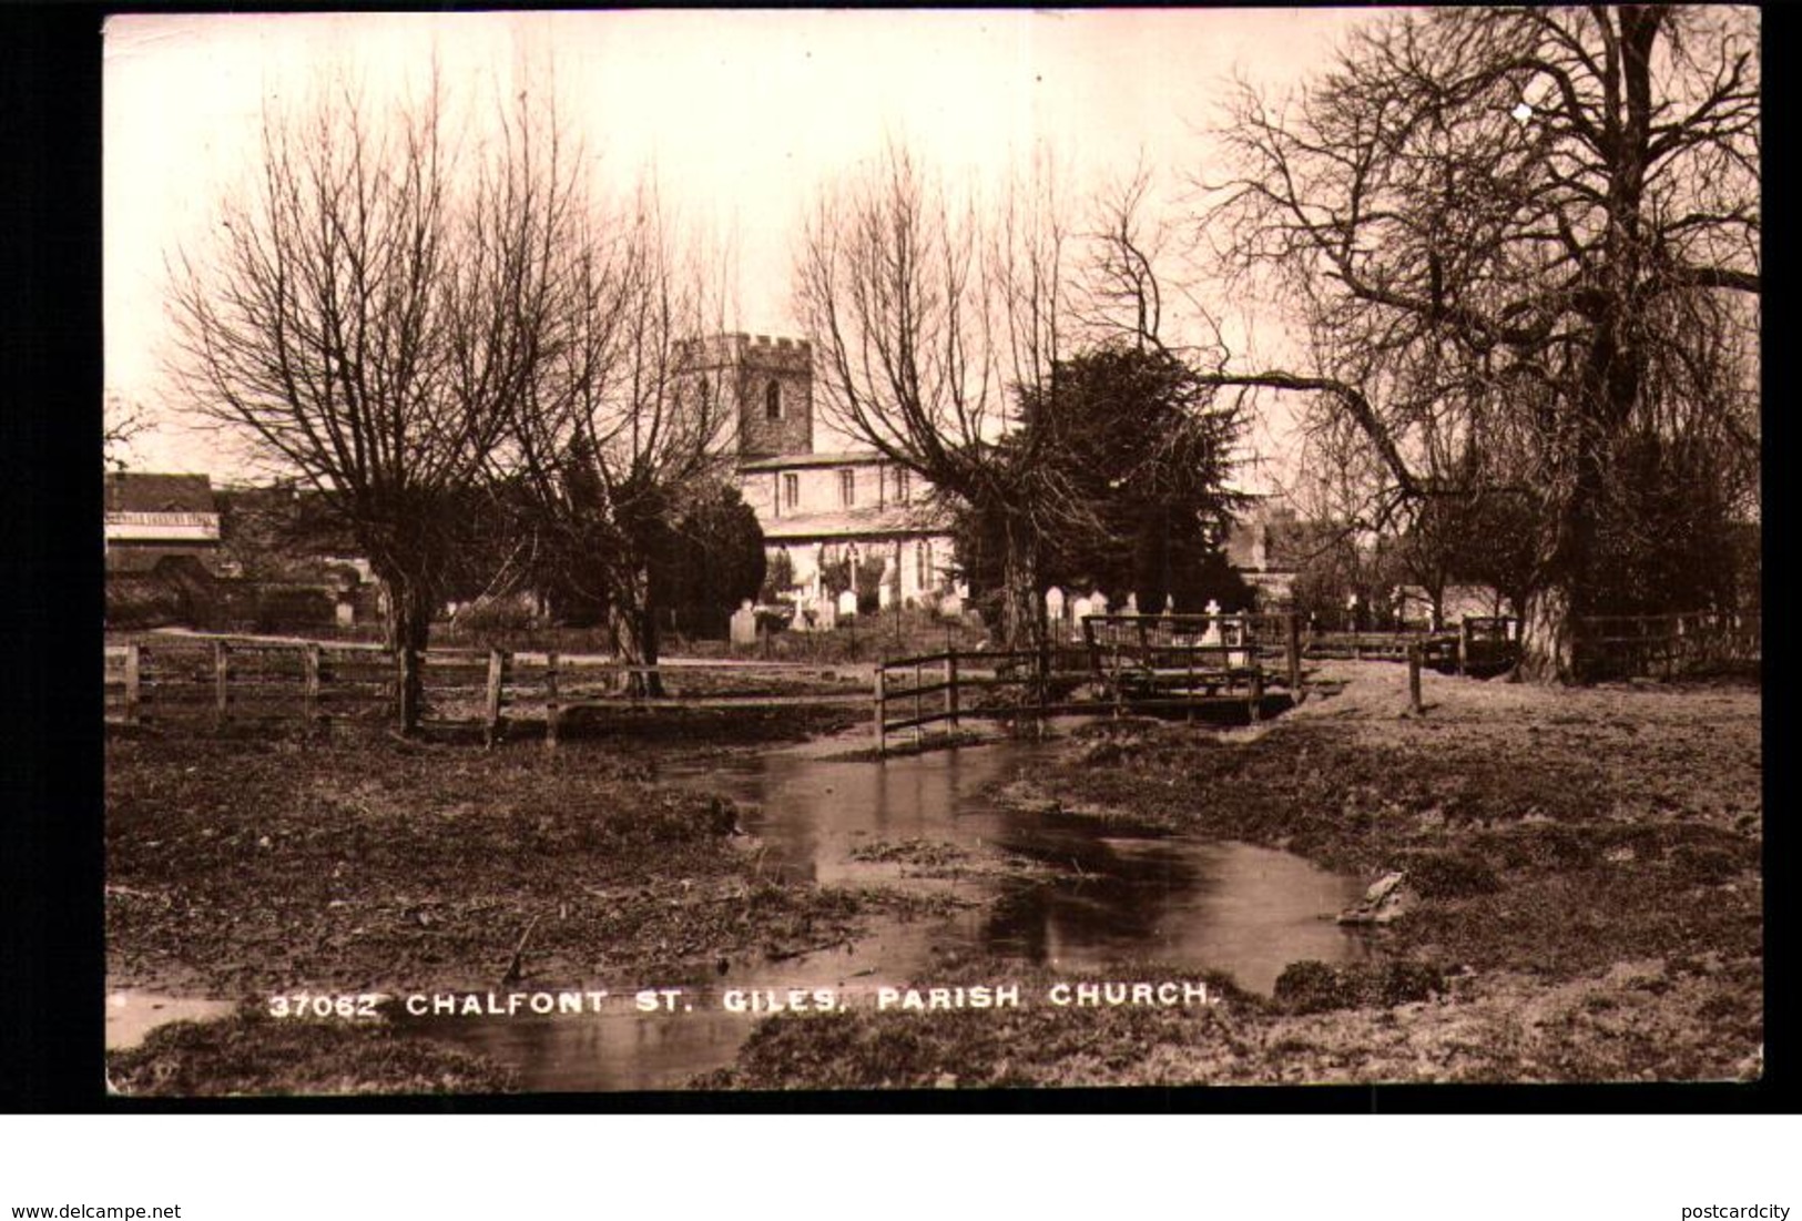
[[[450,81],[553,65],[604,166],[654,167],[665,198],[737,252],[733,330],[796,333],[791,238],[815,184],[905,137],[948,175],[1049,146],[1072,178],[1166,187],[1206,164],[1200,126],[1234,70],[1283,85],[1370,13],[506,13],[115,16],[105,34],[106,389],[153,420],[142,470],[245,468],[182,427],[160,373],[164,254],[213,223],[254,166],[265,95],[355,61],[373,85],[440,56]]]

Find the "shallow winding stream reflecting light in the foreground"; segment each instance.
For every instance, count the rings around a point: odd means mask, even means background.
[[[660,778],[730,796],[764,868],[822,886],[912,886],[978,899],[946,917],[878,917],[869,933],[786,962],[697,969],[676,1012],[638,1012],[616,998],[598,1014],[404,1018],[404,1030],[461,1045],[515,1068],[532,1091],[670,1090],[733,1061],[759,1014],[730,1012],[724,990],[834,989],[852,1005],[879,985],[930,985],[935,951],[982,951],[1083,978],[1128,963],[1231,972],[1269,992],[1290,962],[1350,962],[1361,936],[1332,915],[1362,882],[1243,843],[1130,834],[993,800],[1045,758],[1038,744],[966,746],[881,764],[782,749],[723,765],[661,765]],[[978,863],[995,850],[1043,877],[914,879],[917,866],[858,859],[903,841],[951,845]],[[964,861],[959,861],[964,863]],[[1133,976],[1137,978],[1137,976]],[[688,1008],[692,1005],[692,1010]]]

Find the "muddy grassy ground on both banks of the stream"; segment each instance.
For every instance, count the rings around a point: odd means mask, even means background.
[[[1287,848],[1370,879],[1398,913],[1357,967],[1292,963],[1276,996],[1215,978],[1204,1008],[766,1019],[705,1088],[1752,1079],[1762,1068],[1762,753],[1753,684],[1548,690],[1332,663],[1341,693],[1220,733],[1096,722],[997,800]],[[382,1027],[276,1023],[274,990],[616,981],[782,956],[906,908],[777,884],[735,810],[654,780],[843,728],[843,708],[530,740],[384,735],[108,744],[110,987],[250,1001],[110,1057],[128,1093],[488,1091],[506,1073]],[[580,729],[580,728],[578,728]],[[997,863],[861,850],[908,877]],[[915,900],[917,902],[917,900]],[[530,935],[528,935],[530,929]],[[1193,976],[1121,963],[1121,978]],[[946,958],[919,985],[1051,980]]]

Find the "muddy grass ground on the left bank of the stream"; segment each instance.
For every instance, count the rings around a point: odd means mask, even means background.
[[[402,1048],[378,1025],[256,1012],[297,992],[642,981],[906,913],[901,895],[766,877],[730,801],[654,780],[663,756],[692,764],[845,722],[834,708],[634,713],[578,724],[557,751],[294,726],[119,735],[106,744],[108,989],[249,1012],[151,1032],[110,1057],[114,1084],[506,1088],[492,1066]]]

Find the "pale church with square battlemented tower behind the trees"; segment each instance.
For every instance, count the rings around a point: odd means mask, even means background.
[[[813,348],[742,331],[697,340],[688,369],[735,412],[739,492],[789,592],[822,596],[822,573],[881,560],[881,605],[939,607],[955,589],[951,537],[932,488],[874,450],[816,450]],[[955,603],[953,603],[955,605]]]

